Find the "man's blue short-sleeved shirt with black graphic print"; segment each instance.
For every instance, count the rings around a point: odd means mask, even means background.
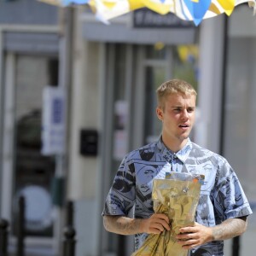
[[[222,223],[252,213],[236,173],[224,157],[188,143],[173,154],[161,139],[127,154],[122,160],[109,190],[102,215],[148,218],[154,213],[152,186],[154,178],[166,172],[189,172],[205,175],[195,221],[206,226]],[[148,234],[135,235],[135,249]],[[192,249],[189,255],[223,255],[223,241],[212,241]]]

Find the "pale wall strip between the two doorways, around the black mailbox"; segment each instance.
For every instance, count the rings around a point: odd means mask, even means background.
[[[79,9],[77,10],[79,13]],[[78,19],[79,16],[77,16]],[[76,20],[73,47],[73,82],[70,113],[70,157],[67,198],[74,201],[74,223],[77,231],[77,256],[96,255],[98,247],[98,157],[79,154],[79,135],[82,128],[99,131],[98,65],[99,45],[86,43],[81,23]]]

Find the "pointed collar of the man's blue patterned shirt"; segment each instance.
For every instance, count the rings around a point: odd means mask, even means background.
[[[162,137],[160,137],[157,143],[157,147],[160,150],[160,154],[165,160],[170,161],[172,160],[173,157],[176,156],[179,160],[181,160],[184,163],[185,160],[187,160],[189,153],[192,149],[192,143],[188,138],[188,142],[186,143],[186,145],[177,153],[173,153],[172,150],[166,147],[166,145],[162,141]]]

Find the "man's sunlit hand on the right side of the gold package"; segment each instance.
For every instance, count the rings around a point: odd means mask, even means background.
[[[213,240],[212,228],[195,223],[192,227],[181,228],[180,234],[176,236],[177,242],[184,249],[200,246]]]

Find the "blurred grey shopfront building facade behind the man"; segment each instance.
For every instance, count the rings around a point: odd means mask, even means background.
[[[7,2],[4,8],[7,12],[12,6],[14,12],[15,4],[19,10],[27,4],[27,11],[28,2]],[[37,4],[44,5],[45,10],[43,5],[39,9],[42,17],[49,15],[47,22],[41,18],[37,24],[26,13],[23,23],[0,20],[1,215],[15,227],[17,198],[26,195],[26,243],[31,248],[60,254],[65,201],[72,200],[76,255],[131,255],[132,237],[106,232],[101,213],[122,157],[160,135],[154,91],[166,79],[195,85],[197,121],[191,138],[224,154],[255,207],[256,24],[246,4],[229,18],[219,15],[197,27],[146,10],[107,26],[86,8]],[[38,129],[48,124],[45,87],[61,90],[65,106],[53,108],[63,114],[62,148],[48,153],[42,151]],[[241,255],[252,254],[255,232],[252,217],[240,239]],[[15,246],[15,228],[11,234]],[[231,255],[231,244],[227,241],[226,255]]]

